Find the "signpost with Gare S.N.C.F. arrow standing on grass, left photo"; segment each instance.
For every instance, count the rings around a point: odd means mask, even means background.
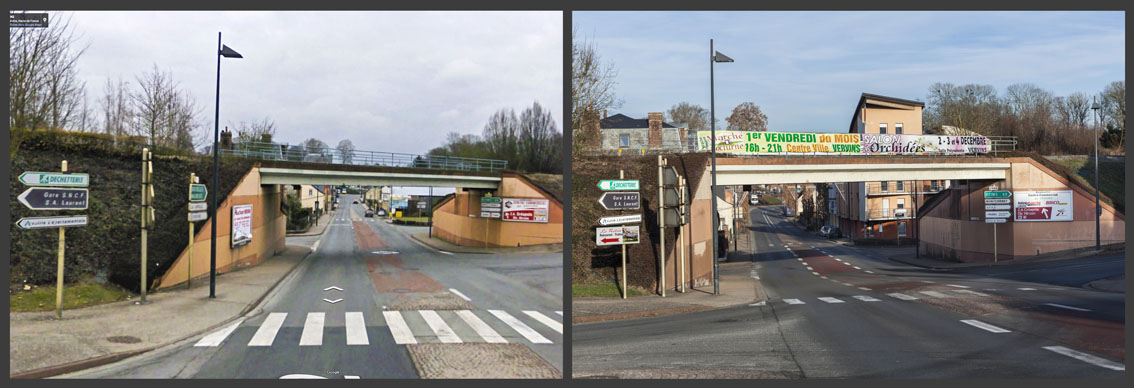
[[[59,172],[25,171],[19,182],[32,187],[24,191],[18,200],[31,210],[86,210],[90,192],[85,188],[91,178],[86,174],[67,174],[67,161],[60,163]],[[83,187],[83,188],[75,188]],[[86,226],[86,216],[27,217],[16,221],[20,229],[59,229],[59,250],[56,269],[56,319],[64,318],[64,254],[67,247],[67,228]]]

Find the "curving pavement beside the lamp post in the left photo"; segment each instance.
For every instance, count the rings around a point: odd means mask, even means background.
[[[43,378],[84,370],[149,352],[215,329],[252,311],[311,253],[289,245],[256,267],[217,277],[217,298],[209,281],[134,301],[85,309],[9,313],[8,368],[11,378]]]

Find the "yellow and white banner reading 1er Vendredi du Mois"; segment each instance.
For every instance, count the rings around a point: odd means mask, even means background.
[[[709,151],[711,132],[697,132],[697,151]],[[861,153],[858,134],[718,130],[718,153]]]

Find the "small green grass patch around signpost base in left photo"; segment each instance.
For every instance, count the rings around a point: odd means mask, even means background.
[[[113,284],[79,282],[64,285],[64,309],[78,309],[96,304],[125,301],[130,292]],[[56,310],[56,287],[37,286],[8,296],[10,312]]]

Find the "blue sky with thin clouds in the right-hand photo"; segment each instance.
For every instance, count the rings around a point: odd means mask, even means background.
[[[572,15],[618,70],[617,112],[687,101],[718,128],[751,101],[769,130],[846,132],[862,93],[925,101],[933,83],[1032,83],[1095,94],[1126,77],[1125,14],[1088,11],[589,11]],[[608,115],[615,112],[608,111]]]

